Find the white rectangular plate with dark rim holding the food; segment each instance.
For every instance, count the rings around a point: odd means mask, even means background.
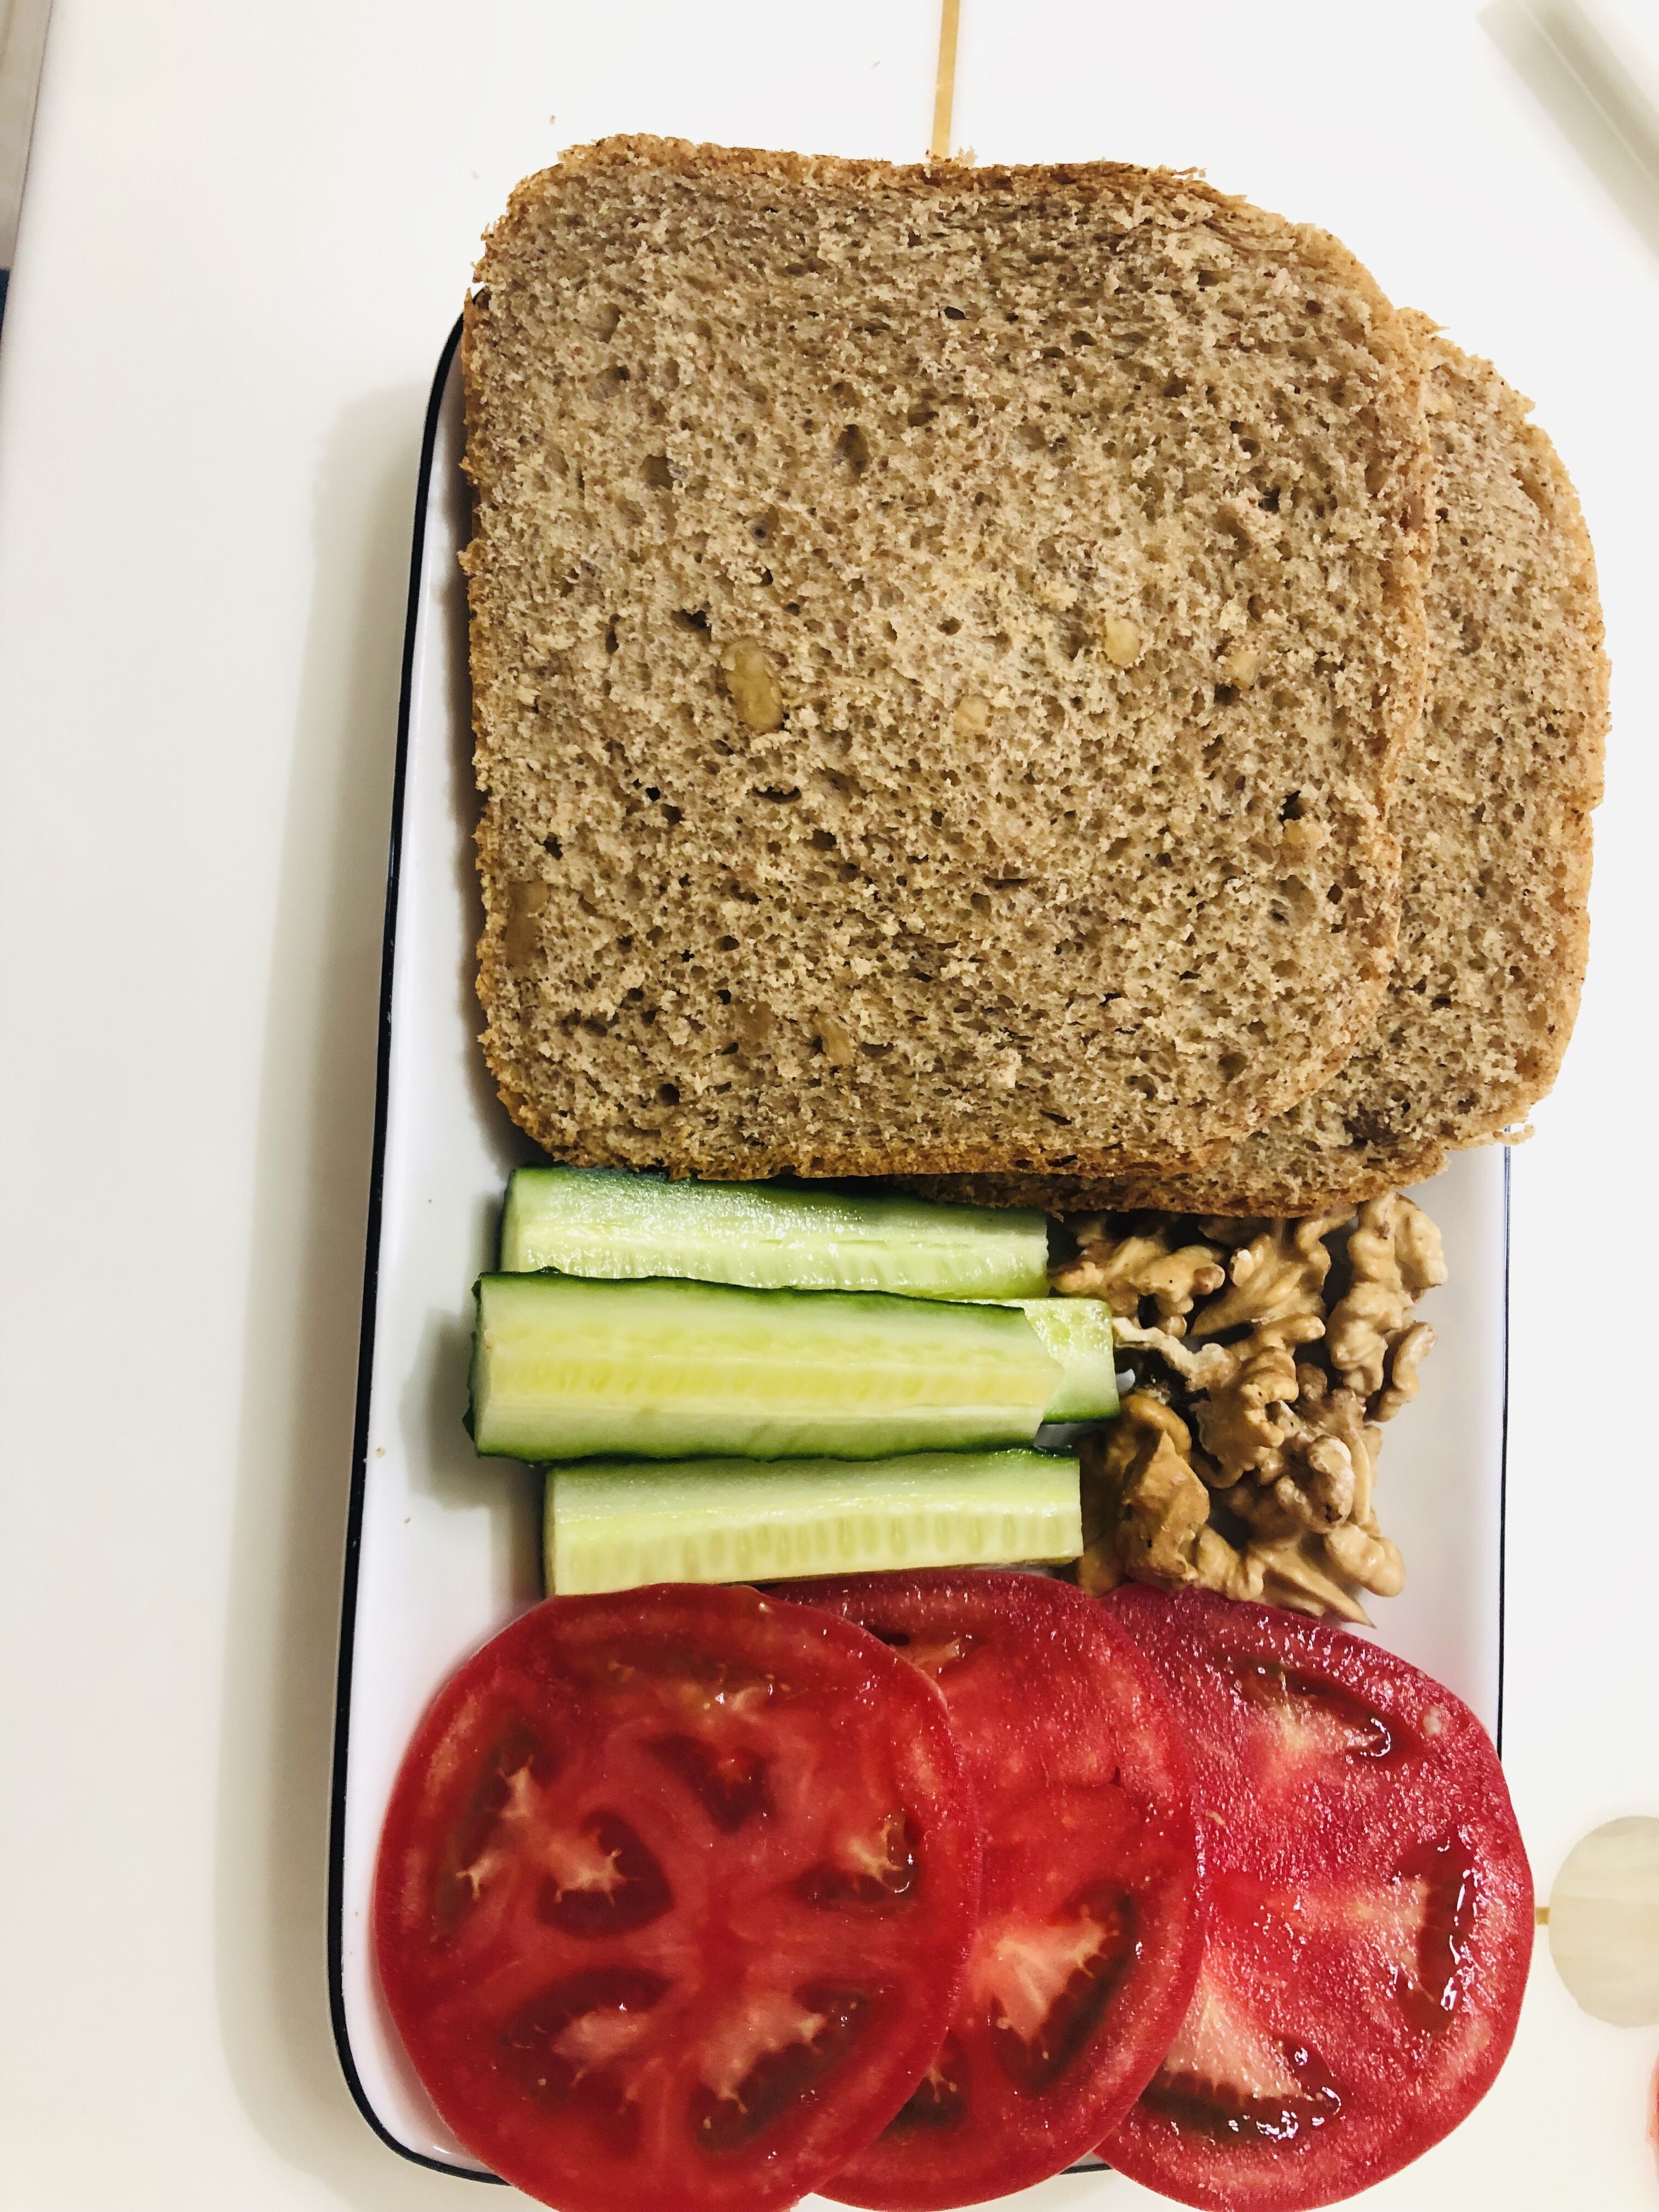
[[[434,385],[416,502],[403,728],[392,816],[380,1088],[363,1298],[330,1840],[334,2035],[369,2126],[425,2166],[493,2181],[447,2132],[387,2020],[369,1955],[369,1880],[403,1747],[449,1670],[542,1595],[540,1478],[478,1460],[467,1405],[471,1285],[495,1261],[502,1188],[540,1157],[478,1051],[476,792],[467,692],[460,365]],[[1422,1312],[1438,1349],[1387,1433],[1380,1515],[1409,1582],[1378,1639],[1498,1732],[1506,1155],[1464,1152],[1416,1192],[1449,1281]],[[1102,2188],[1104,2183],[1075,2183]]]

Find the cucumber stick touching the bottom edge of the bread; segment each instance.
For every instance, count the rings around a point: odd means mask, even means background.
[[[1048,1223],[1035,1208],[940,1206],[898,1192],[518,1168],[502,1212],[502,1274],[542,1267],[752,1290],[1040,1298],[1048,1287]]]

